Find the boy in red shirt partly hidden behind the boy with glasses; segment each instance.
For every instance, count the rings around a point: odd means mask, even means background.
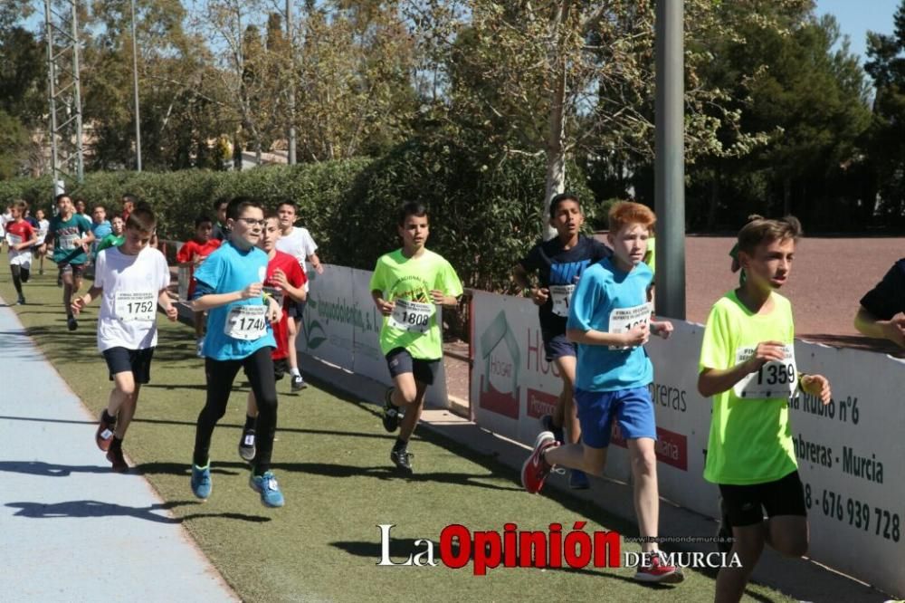
[[[277,251],[276,243],[280,238],[280,221],[277,215],[268,214],[265,218],[267,224],[258,241],[258,246],[267,253],[267,278],[264,279],[264,295],[270,295],[283,309],[280,321],[273,322],[273,339],[277,341],[277,348],[271,353],[273,359],[273,377],[279,381],[283,378],[289,367],[289,312],[286,309],[291,303],[304,302],[308,293],[305,292],[305,283],[308,277],[301,270],[298,260],[290,254]],[[251,463],[254,460],[254,431],[258,417],[258,405],[254,399],[254,392],[248,392],[248,407],[245,413],[245,426],[242,430],[242,438],[239,440],[239,456]]]

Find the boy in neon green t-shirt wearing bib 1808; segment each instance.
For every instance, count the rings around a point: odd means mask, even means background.
[[[380,350],[394,384],[386,391],[383,424],[386,431],[393,432],[401,423],[390,460],[408,474],[412,472],[408,440],[443,360],[436,305],[455,306],[462,295],[462,282],[450,263],[424,248],[429,232],[422,204],[402,206],[399,236],[403,246],[380,256],[371,277],[371,297],[384,315]]]

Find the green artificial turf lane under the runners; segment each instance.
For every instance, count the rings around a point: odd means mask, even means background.
[[[95,343],[98,302],[81,317],[79,330],[66,330],[62,290],[52,267],[25,285],[29,304],[14,310],[72,390],[92,413],[100,413],[110,383]],[[15,299],[8,273],[0,274],[0,295]],[[195,358],[191,329],[158,316],[151,382],[142,388],[124,450],[135,464],[132,471],[147,477],[243,600],[712,600],[714,576],[691,570],[673,588],[637,584],[629,568],[500,568],[474,576],[471,565],[461,570],[443,566],[439,550],[437,567],[378,567],[377,524],[382,523],[396,526],[395,560],[423,549],[414,547],[415,539],[436,544],[451,523],[472,531],[502,531],[506,522],[517,523],[519,530],[560,522],[569,531],[582,520],[588,521],[586,531],[634,533],[634,528],[567,495],[526,494],[517,472],[424,429],[410,445],[414,478],[399,477],[388,460],[394,436],[380,426],[377,407],[316,387],[291,395],[288,379],[278,384],[273,454],[286,506],[262,506],[248,486],[248,466],[237,455],[245,389],[233,394],[214,432],[214,490],[199,503],[189,489],[189,464],[195,418],[205,400],[203,361]],[[98,455],[99,464],[106,464]],[[638,548],[630,544],[624,550]],[[790,600],[755,585],[748,595],[749,600]]]

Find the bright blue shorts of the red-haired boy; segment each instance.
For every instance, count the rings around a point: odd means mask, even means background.
[[[581,441],[592,448],[610,445],[613,419],[627,440],[639,437],[657,439],[657,425],[653,418],[653,400],[648,388],[617,389],[616,391],[575,390]]]

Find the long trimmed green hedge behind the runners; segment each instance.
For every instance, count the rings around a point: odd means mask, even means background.
[[[569,174],[578,173],[570,166]],[[299,205],[300,224],[319,244],[325,262],[373,269],[376,258],[399,246],[396,208],[424,202],[431,211],[429,246],[443,254],[469,287],[510,290],[510,270],[542,225],[543,158],[485,163],[472,148],[442,139],[415,139],[376,160],[353,159],[242,172],[100,172],[86,174],[72,196],[119,210],[125,193],[154,207],[161,238],[185,241],[195,216],[211,214],[215,198],[246,195],[276,207]],[[583,177],[570,189],[593,199]],[[50,177],[0,181],[0,203],[24,198],[33,208],[52,206]],[[593,204],[585,204],[588,222]]]

